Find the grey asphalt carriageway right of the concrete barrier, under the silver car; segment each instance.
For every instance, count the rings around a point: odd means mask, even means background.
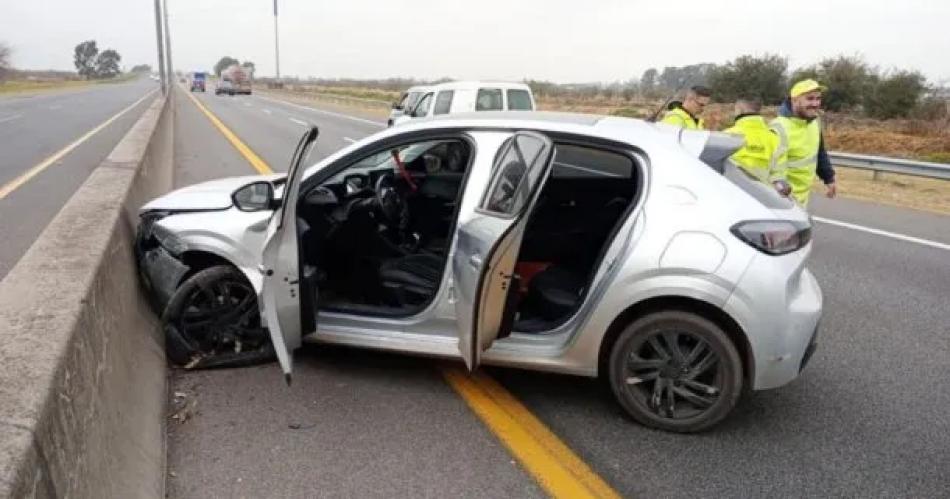
[[[179,97],[178,182],[253,172]],[[298,122],[321,127],[321,156],[381,128],[257,96],[198,98],[279,170]],[[950,217],[847,199],[814,210],[950,244]],[[825,294],[810,365],[705,434],[639,426],[596,380],[490,373],[626,497],[950,496],[950,251],[819,223],[810,267]],[[437,367],[316,347],[290,389],[274,365],[176,372],[197,405],[170,423],[170,496],[540,495]]]

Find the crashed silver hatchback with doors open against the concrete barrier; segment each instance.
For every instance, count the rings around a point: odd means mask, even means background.
[[[140,272],[171,362],[301,342],[601,376],[645,425],[720,422],[815,348],[808,215],[729,164],[732,136],[626,118],[414,122],[289,173],[141,210]]]

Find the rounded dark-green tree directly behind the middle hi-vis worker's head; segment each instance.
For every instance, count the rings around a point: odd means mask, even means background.
[[[709,86],[719,102],[755,97],[766,104],[778,104],[786,94],[787,69],[788,60],[778,55],[744,55],[713,69]]]

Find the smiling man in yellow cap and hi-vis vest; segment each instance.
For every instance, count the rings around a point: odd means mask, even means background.
[[[824,182],[829,198],[838,193],[819,118],[821,95],[825,90],[825,86],[812,79],[792,85],[778,117],[771,123],[778,133],[781,153],[787,157],[785,178],[792,186],[792,197],[803,208],[808,207],[816,175]]]

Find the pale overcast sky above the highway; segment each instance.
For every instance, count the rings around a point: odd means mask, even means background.
[[[272,0],[167,1],[176,69],[230,55],[274,73]],[[283,75],[616,81],[750,53],[792,68],[857,53],[950,83],[950,0],[279,1]],[[0,41],[28,69],[71,70],[90,38],[126,68],[156,66],[154,15],[152,0],[0,0]]]

